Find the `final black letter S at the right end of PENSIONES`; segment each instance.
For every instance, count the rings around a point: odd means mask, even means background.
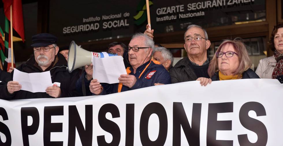
[[[249,117],[249,111],[255,111],[256,116],[266,116],[265,108],[258,102],[245,103],[239,113],[241,124],[256,133],[258,140],[255,143],[251,143],[247,137],[247,134],[238,135],[238,141],[240,145],[266,145],[267,144],[267,129],[265,125],[254,118]]]

